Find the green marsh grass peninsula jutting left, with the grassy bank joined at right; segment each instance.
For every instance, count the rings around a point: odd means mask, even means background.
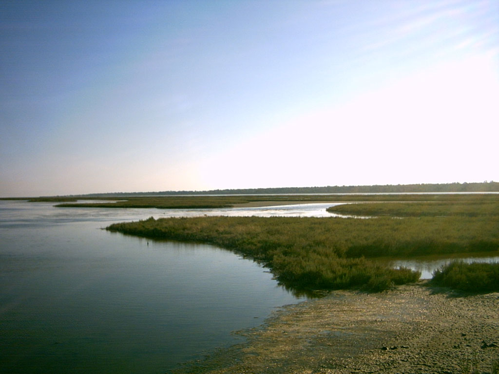
[[[334,207],[335,211],[339,207],[354,207],[354,213],[361,215],[376,208],[377,213],[387,214],[374,219],[151,217],[113,224],[107,229],[232,249],[263,262],[281,283],[293,288],[379,291],[414,282],[419,274],[405,268],[384,267],[372,260],[375,257],[498,250],[498,196],[448,198],[444,196],[438,202]],[[401,214],[402,211],[406,213]],[[393,218],[392,214],[404,218]]]

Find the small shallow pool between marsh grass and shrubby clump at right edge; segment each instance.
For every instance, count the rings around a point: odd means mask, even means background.
[[[413,270],[421,271],[421,279],[433,278],[433,272],[438,268],[450,263],[451,261],[461,260],[467,263],[472,262],[499,262],[499,252],[481,252],[458,254],[454,256],[424,256],[400,260],[381,259],[380,261],[388,261],[393,267],[408,267]]]

